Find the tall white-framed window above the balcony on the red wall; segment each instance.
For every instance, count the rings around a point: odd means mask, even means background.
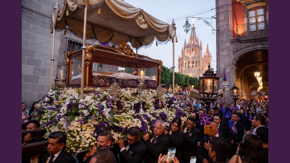
[[[264,8],[249,10],[250,31],[265,29]]]

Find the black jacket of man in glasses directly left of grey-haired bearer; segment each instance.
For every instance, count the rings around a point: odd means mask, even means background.
[[[146,150],[144,142],[138,140],[136,144],[129,147],[128,151],[124,149],[120,152],[120,163],[141,163]]]

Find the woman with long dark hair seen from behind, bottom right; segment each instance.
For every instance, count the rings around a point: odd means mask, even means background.
[[[240,147],[240,148],[239,148]],[[244,141],[238,146],[238,155],[234,155],[229,163],[235,163],[238,157],[238,163],[264,163],[265,155],[263,151],[262,139],[257,135],[246,135]]]

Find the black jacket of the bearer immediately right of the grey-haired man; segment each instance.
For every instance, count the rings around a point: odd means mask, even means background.
[[[172,132],[171,135],[169,133],[166,134],[169,139],[169,147],[168,148],[176,148],[175,156],[177,160],[181,160],[181,151],[182,151],[182,144],[185,139],[185,133],[181,130],[176,132]]]

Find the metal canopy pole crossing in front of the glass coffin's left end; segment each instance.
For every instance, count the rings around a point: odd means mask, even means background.
[[[87,9],[88,9],[88,1],[86,1],[85,13],[84,13],[84,35],[83,35],[83,46],[81,49],[83,50],[83,55],[81,59],[81,95],[80,100],[84,98],[84,81],[85,81],[85,54],[86,54],[86,26],[87,26]]]

